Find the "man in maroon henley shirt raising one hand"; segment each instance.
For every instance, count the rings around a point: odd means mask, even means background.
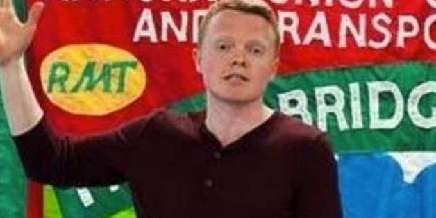
[[[78,139],[51,133],[20,62],[43,4],[21,26],[1,1],[3,100],[29,177],[59,187],[128,181],[139,217],[341,217],[324,134],[262,103],[279,49],[264,1],[219,1],[203,20],[194,60],[205,112],[158,110]]]

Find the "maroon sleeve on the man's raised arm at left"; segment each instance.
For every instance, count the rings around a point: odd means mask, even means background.
[[[114,131],[86,137],[57,137],[42,119],[14,137],[26,175],[58,187],[101,186],[125,180],[128,157],[149,117]]]

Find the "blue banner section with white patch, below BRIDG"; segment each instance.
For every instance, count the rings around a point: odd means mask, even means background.
[[[338,157],[345,218],[435,218],[436,153]]]

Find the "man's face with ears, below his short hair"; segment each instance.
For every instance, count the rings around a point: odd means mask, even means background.
[[[208,97],[228,103],[259,101],[278,66],[273,28],[258,15],[223,10],[210,19],[194,59]]]

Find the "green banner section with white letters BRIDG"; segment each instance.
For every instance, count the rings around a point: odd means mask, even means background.
[[[338,152],[436,151],[435,71],[405,62],[283,76],[265,101],[327,131]]]

